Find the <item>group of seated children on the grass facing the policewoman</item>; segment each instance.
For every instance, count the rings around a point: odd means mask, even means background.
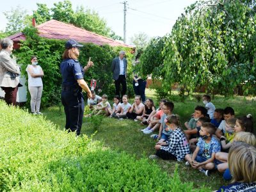
[[[108,96],[102,95],[102,101],[93,107],[91,114],[140,120],[141,125],[147,125],[141,129],[144,134],[159,129],[157,134],[150,136],[157,140],[156,154],[150,159],[185,159],[187,166],[207,176],[217,169],[223,172],[224,179],[232,179],[232,184],[219,191],[237,188],[256,191],[256,138],[252,133],[252,115],[235,118],[234,109],[216,109],[209,95],[202,99],[205,107],[196,106],[192,118],[184,124],[185,131],[181,128],[179,115],[173,115],[173,102],[166,99],[162,99],[159,108],[155,109],[151,99],[144,105],[136,95],[131,105],[127,95],[122,97],[122,104],[115,96],[111,109]]]

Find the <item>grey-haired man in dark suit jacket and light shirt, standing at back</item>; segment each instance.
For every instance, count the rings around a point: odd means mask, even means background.
[[[112,62],[111,70],[113,72],[113,79],[115,80],[116,95],[120,96],[120,84],[122,84],[122,95],[125,95],[127,90],[126,72],[127,60],[124,58],[125,52],[120,51],[119,57]]]

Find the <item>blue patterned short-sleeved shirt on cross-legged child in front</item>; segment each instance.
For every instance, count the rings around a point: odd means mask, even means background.
[[[209,147],[205,146],[205,140],[203,140],[202,138],[198,139],[198,143],[196,143],[196,145],[199,147],[199,152],[198,152],[198,156],[208,156],[209,158],[211,158],[212,153],[216,153],[216,152],[220,152],[220,143],[218,140],[216,140],[216,138],[214,138],[212,136],[212,139],[210,141],[210,143],[208,143],[207,145],[209,145]],[[205,151],[207,147],[208,151]],[[209,159],[207,158],[207,159]]]

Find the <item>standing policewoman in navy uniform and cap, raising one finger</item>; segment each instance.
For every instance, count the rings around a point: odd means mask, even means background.
[[[92,97],[90,88],[84,81],[84,71],[92,67],[93,62],[88,61],[83,68],[77,60],[79,57],[79,47],[76,40],[68,40],[65,44],[63,61],[60,64],[62,76],[61,102],[66,115],[65,128],[68,131],[76,132],[79,136],[84,114],[84,98],[82,90],[87,92],[88,98]]]

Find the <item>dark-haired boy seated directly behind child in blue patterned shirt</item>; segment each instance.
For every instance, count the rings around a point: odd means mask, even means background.
[[[195,129],[196,128],[196,122],[198,121],[198,118],[200,118],[201,116],[208,116],[207,115],[207,109],[204,108],[203,106],[196,106],[195,112],[193,113],[193,118],[191,118],[189,120],[189,122],[185,122],[185,124],[184,124],[185,127],[188,130]]]

